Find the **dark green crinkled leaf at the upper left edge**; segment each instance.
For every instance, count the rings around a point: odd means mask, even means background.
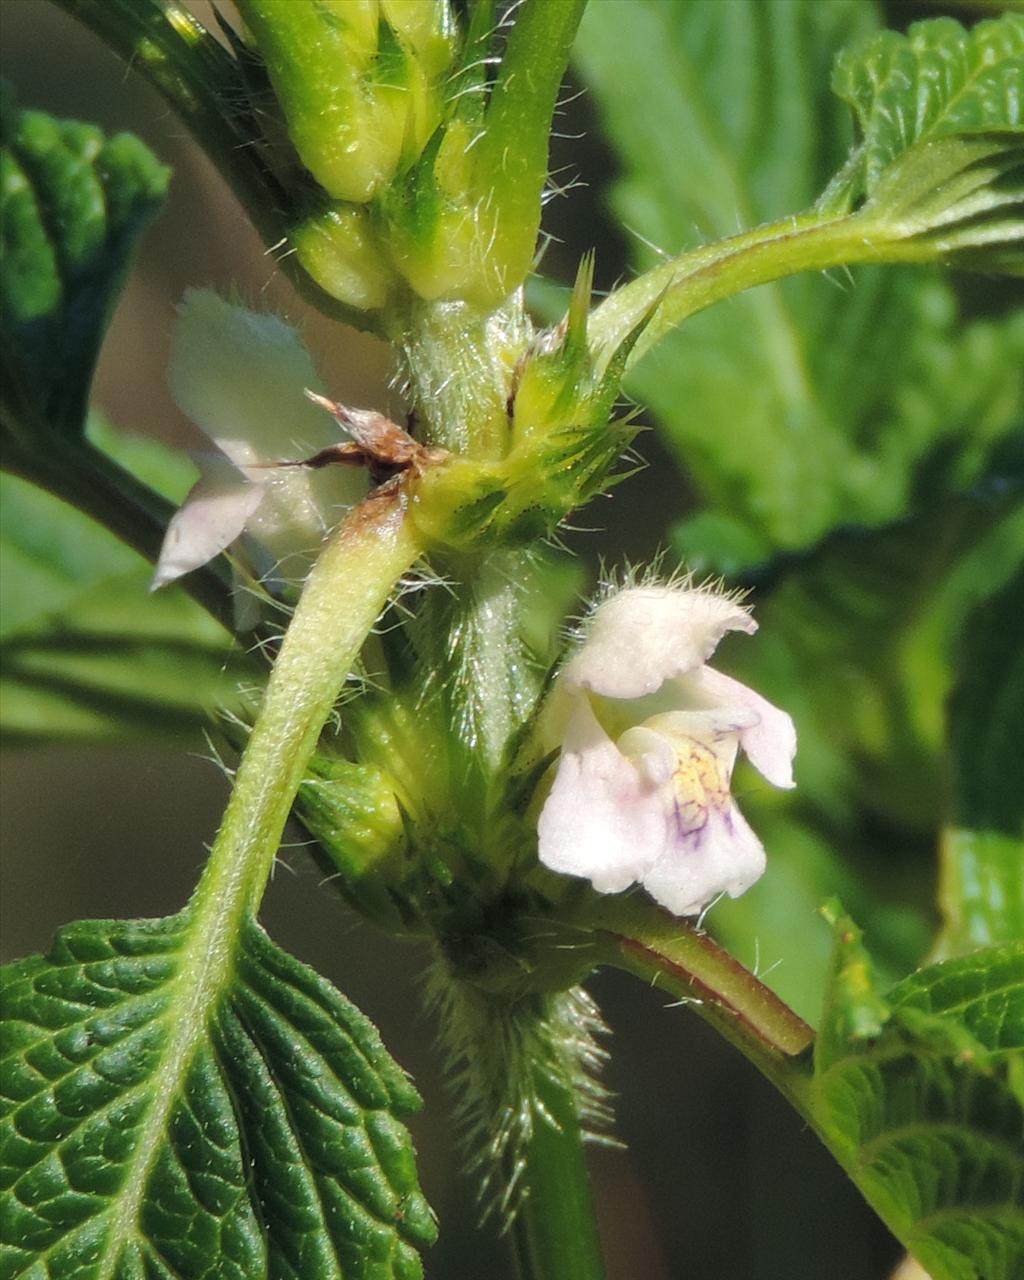
[[[4,369],[4,399],[27,398],[54,433],[76,436],[83,429],[114,300],[168,180],[169,170],[131,134],[105,138],[95,125],[41,111],[4,113],[8,268],[0,300],[14,365]],[[22,445],[31,449],[31,442]]]

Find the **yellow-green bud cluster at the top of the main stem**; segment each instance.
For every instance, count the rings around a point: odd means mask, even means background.
[[[276,100],[261,116],[279,113],[315,180],[288,241],[316,283],[370,312],[410,289],[481,308],[508,297],[532,260],[564,63],[548,69],[525,47],[506,77],[513,102],[488,79],[484,5],[465,26],[449,0],[238,8]],[[579,8],[541,15],[540,47],[567,50]]]

